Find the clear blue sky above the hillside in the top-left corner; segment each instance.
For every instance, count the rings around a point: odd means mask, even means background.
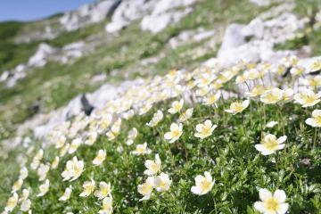
[[[1,0],[0,21],[34,21],[95,0]]]

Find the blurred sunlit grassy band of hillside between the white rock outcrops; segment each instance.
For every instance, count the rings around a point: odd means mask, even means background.
[[[222,31],[223,27],[232,21],[243,23],[250,21],[260,10],[263,8],[258,9],[247,1],[229,0],[218,3],[218,1],[206,0],[196,4],[194,12],[183,21],[158,35],[142,32],[137,23],[131,25],[123,30],[119,37],[112,38],[111,43],[102,45],[95,53],[79,59],[70,66],[49,63],[43,69],[32,70],[28,78],[21,80],[11,89],[0,86],[1,101],[4,104],[4,108],[0,110],[0,120],[5,121],[4,126],[10,129],[12,124],[28,119],[32,116],[29,106],[38,98],[41,100],[42,111],[60,107],[75,95],[97,88],[98,85],[92,85],[89,81],[96,73],[109,74],[111,70],[119,70],[117,77],[110,77],[109,81],[123,79],[125,72],[130,73],[131,78],[142,76],[140,62],[146,57],[161,53],[168,56],[149,67],[148,70],[144,70],[147,76],[161,74],[171,68],[191,67],[197,62],[215,56],[217,50],[213,49],[200,58],[192,59],[193,56],[185,57],[182,53],[197,44],[186,44],[177,50],[172,50],[167,46],[169,38],[177,36],[184,29],[199,27],[219,29],[218,26],[220,26]],[[224,12],[221,13],[221,11]],[[98,33],[102,29],[103,24],[89,26],[47,42],[51,45],[64,45]]]

